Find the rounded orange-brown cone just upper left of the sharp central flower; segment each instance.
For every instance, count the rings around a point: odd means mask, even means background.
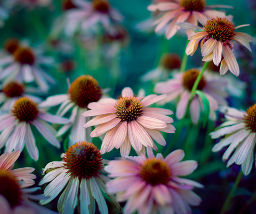
[[[76,78],[68,89],[70,99],[81,108],[87,108],[91,102],[97,102],[102,95],[98,81],[90,75]]]

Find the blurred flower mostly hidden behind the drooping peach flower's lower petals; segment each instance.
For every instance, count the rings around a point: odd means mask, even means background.
[[[216,66],[213,61],[211,61],[204,72],[204,75],[206,78],[209,79],[216,79],[216,80],[225,80],[227,83],[226,91],[230,96],[235,97],[242,97],[245,88],[246,88],[246,82],[239,80],[231,73],[227,73],[224,76],[220,76],[220,65]]]

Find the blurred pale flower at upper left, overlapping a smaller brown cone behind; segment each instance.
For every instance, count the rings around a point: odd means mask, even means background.
[[[53,59],[38,52],[39,50],[29,46],[18,46],[12,55],[2,57],[0,66],[4,66],[4,69],[0,73],[0,80],[34,82],[42,90],[48,90],[49,84],[55,84],[55,80],[40,65],[53,65]]]

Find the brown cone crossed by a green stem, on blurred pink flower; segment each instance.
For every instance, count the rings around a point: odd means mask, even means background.
[[[187,70],[184,73],[183,80],[182,80],[183,87],[191,91],[198,75],[199,75],[199,71],[197,69],[193,68],[193,69]],[[206,85],[206,81],[204,76],[202,76],[197,86],[197,90],[202,90],[205,85]]]

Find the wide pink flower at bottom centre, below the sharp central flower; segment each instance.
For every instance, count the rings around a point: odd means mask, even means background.
[[[191,213],[190,205],[199,205],[201,198],[192,190],[203,185],[178,176],[190,175],[196,168],[193,160],[181,161],[182,150],[175,150],[166,158],[151,148],[148,158],[126,157],[108,162],[105,170],[115,178],[107,183],[109,193],[117,193],[117,200],[126,201],[124,214]]]

